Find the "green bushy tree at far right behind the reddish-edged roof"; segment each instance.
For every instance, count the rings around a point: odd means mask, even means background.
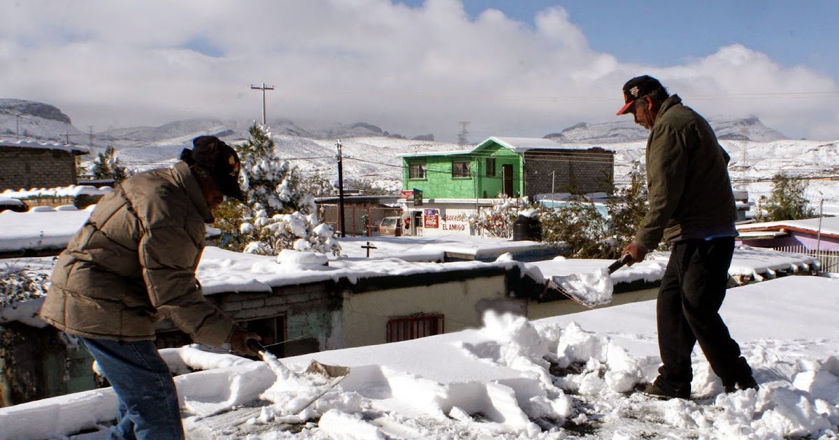
[[[758,199],[758,221],[799,220],[816,217],[816,210],[810,207],[805,197],[808,182],[790,178],[786,173],[773,176],[772,192],[769,198]]]

